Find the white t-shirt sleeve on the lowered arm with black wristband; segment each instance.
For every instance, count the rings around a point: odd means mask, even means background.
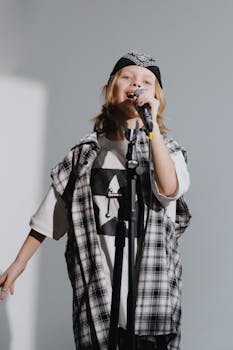
[[[67,212],[61,196],[51,185],[29,223],[31,229],[58,240],[68,229]]]

